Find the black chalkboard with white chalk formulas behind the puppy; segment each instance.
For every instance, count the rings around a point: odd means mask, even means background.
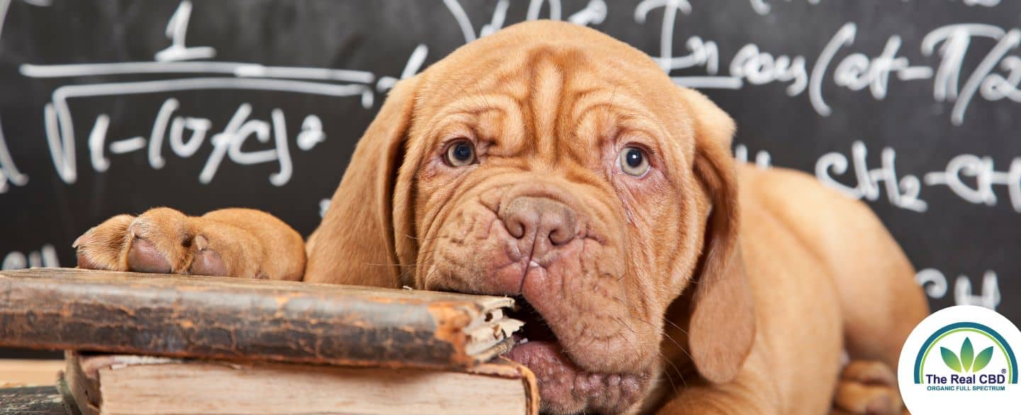
[[[400,78],[507,25],[586,25],[737,121],[734,153],[866,200],[934,308],[1021,321],[1021,2],[0,0],[0,260],[119,213],[314,229]]]

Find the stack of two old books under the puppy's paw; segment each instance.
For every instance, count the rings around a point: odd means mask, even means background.
[[[507,297],[72,269],[0,272],[0,345],[65,350],[90,414],[536,414]]]

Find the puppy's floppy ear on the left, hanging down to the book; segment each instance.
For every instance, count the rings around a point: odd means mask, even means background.
[[[358,140],[323,222],[305,243],[304,281],[399,286],[394,234],[408,232],[403,228],[410,223],[398,221],[395,232],[394,188],[418,84],[417,77],[398,82]]]

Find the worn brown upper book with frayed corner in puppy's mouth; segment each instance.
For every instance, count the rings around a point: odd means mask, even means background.
[[[465,368],[506,352],[508,297],[77,269],[0,271],[0,345]]]

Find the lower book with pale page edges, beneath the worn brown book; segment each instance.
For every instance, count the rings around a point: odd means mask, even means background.
[[[68,353],[83,415],[534,415],[535,377],[497,359],[463,371]]]

